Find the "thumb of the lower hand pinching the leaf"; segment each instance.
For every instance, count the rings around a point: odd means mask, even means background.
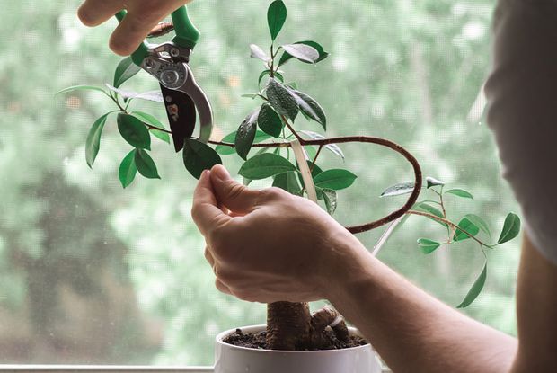
[[[225,167],[217,164],[210,173],[213,190],[219,203],[233,213],[247,214],[255,208],[261,191],[253,191],[234,181]]]

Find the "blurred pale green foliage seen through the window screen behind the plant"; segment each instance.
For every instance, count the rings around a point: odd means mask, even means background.
[[[75,16],[79,0],[0,0],[0,363],[212,364],[222,330],[263,324],[265,306],[219,294],[190,218],[195,181],[172,147],[156,143],[163,179],[138,179],[126,191],[117,169],[128,146],[112,117],[93,171],[84,140],[111,110],[99,93],[55,97],[69,85],[111,83],[119,57],[108,49],[116,22],[95,29]],[[391,138],[427,175],[472,191],[449,200],[458,220],[476,213],[498,235],[517,210],[483,116],[490,67],[491,0],[287,0],[280,41],[316,40],[332,56],[317,67],[289,63],[289,81],[322,103],[330,135]],[[252,108],[261,61],[249,43],[269,45],[268,1],[198,0],[190,15],[202,31],[191,61],[213,103],[217,134],[234,130]],[[127,86],[156,89],[141,73]],[[136,102],[154,112],[155,103]],[[298,129],[319,131],[299,121]],[[411,181],[402,158],[372,146],[343,147],[359,178],[340,193],[341,223],[378,218],[403,197],[386,187]],[[326,166],[342,161],[326,154]],[[239,162],[225,159],[232,172]],[[372,248],[382,229],[359,235]],[[411,217],[379,257],[450,305],[482,270],[465,241],[426,256],[420,236],[443,229]],[[495,240],[497,237],[492,237]],[[519,240],[489,253],[486,289],[468,315],[516,333],[514,284]],[[262,248],[263,249],[263,248]]]

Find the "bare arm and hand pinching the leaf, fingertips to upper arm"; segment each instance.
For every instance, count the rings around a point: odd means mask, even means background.
[[[262,303],[329,299],[395,372],[557,367],[557,288],[551,285],[557,268],[526,235],[517,340],[403,279],[313,202],[276,188],[249,190],[220,165],[202,174],[192,216],[206,238],[217,289]]]

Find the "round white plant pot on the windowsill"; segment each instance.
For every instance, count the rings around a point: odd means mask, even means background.
[[[259,333],[265,325],[240,328]],[[235,329],[217,335],[215,373],[381,373],[371,345],[326,351],[270,351],[248,349],[223,342]],[[357,334],[349,328],[350,334]]]

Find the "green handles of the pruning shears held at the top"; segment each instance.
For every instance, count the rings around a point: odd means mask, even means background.
[[[116,18],[119,22],[122,22],[126,14],[127,12],[124,10],[119,11],[119,13],[116,13]],[[191,23],[186,5],[182,5],[172,12],[172,22],[176,32],[172,42],[180,47],[193,49],[199,40],[199,30]],[[141,63],[147,57],[147,49],[149,49],[149,45],[144,40],[137,50],[131,54],[131,59],[137,66],[141,66]]]

